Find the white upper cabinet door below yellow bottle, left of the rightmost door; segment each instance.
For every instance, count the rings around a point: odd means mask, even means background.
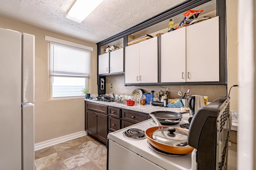
[[[186,27],[161,35],[161,82],[186,82]]]

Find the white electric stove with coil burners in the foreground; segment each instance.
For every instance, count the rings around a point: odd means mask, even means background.
[[[180,124],[188,123],[181,120]],[[120,129],[108,134],[108,169],[109,170],[192,170],[196,169],[196,153],[171,156],[152,150],[147,139],[132,140],[124,137],[128,129],[146,131],[156,126],[152,119]],[[172,127],[180,127],[175,125]]]

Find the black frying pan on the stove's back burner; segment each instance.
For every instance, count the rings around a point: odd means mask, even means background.
[[[154,111],[151,114],[155,115],[162,125],[178,125],[182,119],[182,114],[172,111]]]

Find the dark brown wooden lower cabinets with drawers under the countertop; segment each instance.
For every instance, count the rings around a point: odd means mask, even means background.
[[[147,115],[118,107],[85,102],[85,130],[88,135],[106,145],[108,133],[150,119]]]

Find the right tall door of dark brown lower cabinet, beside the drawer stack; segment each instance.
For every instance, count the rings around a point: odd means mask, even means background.
[[[106,145],[108,135],[108,116],[96,113],[96,138]]]

